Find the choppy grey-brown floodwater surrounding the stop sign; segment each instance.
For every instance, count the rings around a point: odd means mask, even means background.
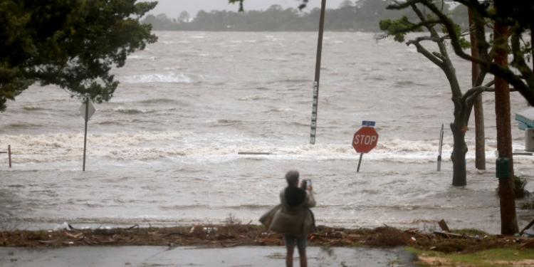
[[[113,70],[120,85],[95,103],[85,172],[80,101],[37,85],[0,115],[0,225],[52,229],[256,224],[298,169],[311,179],[318,224],[387,224],[500,232],[495,194],[494,96],[483,95],[486,171],[474,167],[474,119],[466,133],[466,187],[452,187],[451,90],[413,46],[376,43],[372,33],[325,33],[315,145],[309,144],[316,33],[156,32],[159,42]],[[464,91],[470,63],[455,59]],[[527,107],[511,95],[513,120]],[[362,120],[376,122],[377,147],[351,146]],[[436,171],[444,124],[441,172]],[[268,152],[271,155],[239,155]],[[534,157],[515,174],[534,191]],[[520,201],[518,201],[520,204]],[[520,226],[532,219],[518,209]]]

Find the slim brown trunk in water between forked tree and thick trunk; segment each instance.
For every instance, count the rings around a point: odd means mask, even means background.
[[[468,9],[469,28],[473,27],[473,13]],[[478,58],[478,48],[476,46],[476,36],[473,30],[470,33],[471,37],[471,56]],[[475,81],[478,77],[480,69],[475,62],[471,63],[471,83],[476,86]],[[484,132],[484,108],[482,106],[482,94],[479,94],[474,103],[475,110],[475,167],[476,169],[486,169],[486,134]]]

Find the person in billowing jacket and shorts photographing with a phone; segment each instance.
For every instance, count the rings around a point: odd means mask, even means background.
[[[298,187],[299,174],[291,170],[286,174],[288,187],[280,193],[281,204],[261,216],[261,223],[271,231],[283,234],[286,243],[286,266],[293,267],[293,252],[298,247],[300,267],[308,266],[306,244],[308,234],[316,231],[311,207],[315,206],[313,188],[305,180]]]

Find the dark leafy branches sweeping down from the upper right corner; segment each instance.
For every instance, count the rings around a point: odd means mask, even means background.
[[[494,1],[473,1],[456,0],[457,10],[471,9],[473,12],[474,28],[479,57],[473,58],[464,51],[465,43],[461,34],[456,31],[456,26],[451,16],[440,9],[434,1],[430,0],[407,0],[396,1],[388,6],[388,9],[403,10],[412,4],[424,6],[429,14],[435,16],[435,20],[429,23],[439,23],[444,26],[449,33],[450,43],[454,53],[468,61],[479,64],[482,71],[487,71],[505,79],[518,90],[530,105],[534,105],[534,73],[533,66],[530,65],[530,58],[533,56],[533,29],[534,29],[534,2],[523,0],[494,0]],[[499,12],[496,12],[496,9]],[[498,48],[493,36],[488,36],[485,31],[487,26],[500,23],[510,28],[510,39],[507,42],[507,50],[510,51],[512,61],[508,67],[503,67],[493,62],[493,55]],[[397,33],[402,33],[400,29]],[[528,34],[530,33],[530,34]],[[529,40],[530,39],[530,40]]]

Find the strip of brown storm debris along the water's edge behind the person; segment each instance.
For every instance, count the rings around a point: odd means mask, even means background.
[[[483,236],[483,237],[480,237]],[[524,236],[492,236],[486,233],[457,234],[445,231],[423,233],[383,226],[375,229],[342,229],[318,226],[308,236],[309,246],[390,248],[412,246],[444,253],[473,252],[488,248],[534,248],[534,239]],[[283,237],[259,225],[200,225],[193,227],[106,227],[77,229],[68,224],[57,231],[0,231],[0,246],[282,246]]]

